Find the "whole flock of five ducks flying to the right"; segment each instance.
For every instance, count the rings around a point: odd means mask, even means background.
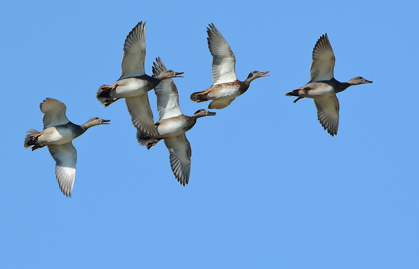
[[[212,23],[207,28],[207,34],[209,52],[213,57],[213,84],[204,91],[192,93],[190,99],[197,103],[211,100],[208,109],[223,109],[245,93],[253,80],[268,76],[268,72],[253,71],[246,80],[238,80],[235,74],[235,57],[227,41]],[[182,114],[178,90],[172,78],[182,77],[183,72],[168,70],[161,59],[156,58],[152,67],[153,75],[149,76],[145,74],[144,61],[145,23],[140,22],[125,39],[121,77],[112,85],[99,87],[96,98],[105,107],[124,98],[132,124],[137,128],[137,141],[149,150],[163,140],[169,151],[173,174],[185,186],[191,171],[191,145],[185,133],[194,127],[198,118],[214,116],[216,113],[199,109],[192,116]],[[339,125],[339,100],[336,93],[351,85],[372,83],[362,77],[339,82],[333,75],[334,65],[334,53],[327,34],[324,34],[313,49],[311,80],[303,87],[285,94],[298,97],[294,103],[301,98],[314,99],[318,120],[332,136],[337,135]],[[148,92],[153,89],[157,96],[157,122],[154,122],[148,101]],[[85,124],[74,124],[67,119],[65,104],[53,98],[44,100],[40,109],[44,114],[44,129],[41,132],[29,130],[24,139],[24,147],[32,147],[32,151],[48,147],[56,162],[55,175],[59,187],[63,194],[71,197],[77,161],[77,151],[72,140],[90,127],[109,124],[110,120],[95,117]]]

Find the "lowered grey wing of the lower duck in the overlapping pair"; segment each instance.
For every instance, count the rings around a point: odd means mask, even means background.
[[[177,137],[167,137],[164,143],[169,151],[170,166],[173,175],[184,185],[189,182],[189,174],[191,173],[191,144],[186,139],[186,135],[182,134]]]

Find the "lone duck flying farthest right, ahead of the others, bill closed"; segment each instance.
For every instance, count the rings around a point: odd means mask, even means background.
[[[352,85],[372,83],[362,77],[355,77],[347,82],[339,82],[334,78],[335,55],[327,34],[322,35],[313,49],[313,62],[310,67],[311,80],[303,87],[286,93],[286,96],[297,96],[294,103],[301,98],[314,99],[317,118],[321,126],[331,135],[338,134],[339,100],[336,93],[344,91]]]

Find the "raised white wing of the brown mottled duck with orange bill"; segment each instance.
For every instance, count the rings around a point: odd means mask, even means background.
[[[209,24],[207,34],[208,48],[212,55],[213,85],[237,80],[235,75],[235,57],[227,41],[225,41],[213,23]]]

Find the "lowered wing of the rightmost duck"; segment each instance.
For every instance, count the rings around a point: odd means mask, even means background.
[[[328,97],[314,99],[314,104],[317,109],[317,119],[320,121],[321,126],[327,129],[331,135],[338,134],[339,127],[339,100],[336,94]]]

